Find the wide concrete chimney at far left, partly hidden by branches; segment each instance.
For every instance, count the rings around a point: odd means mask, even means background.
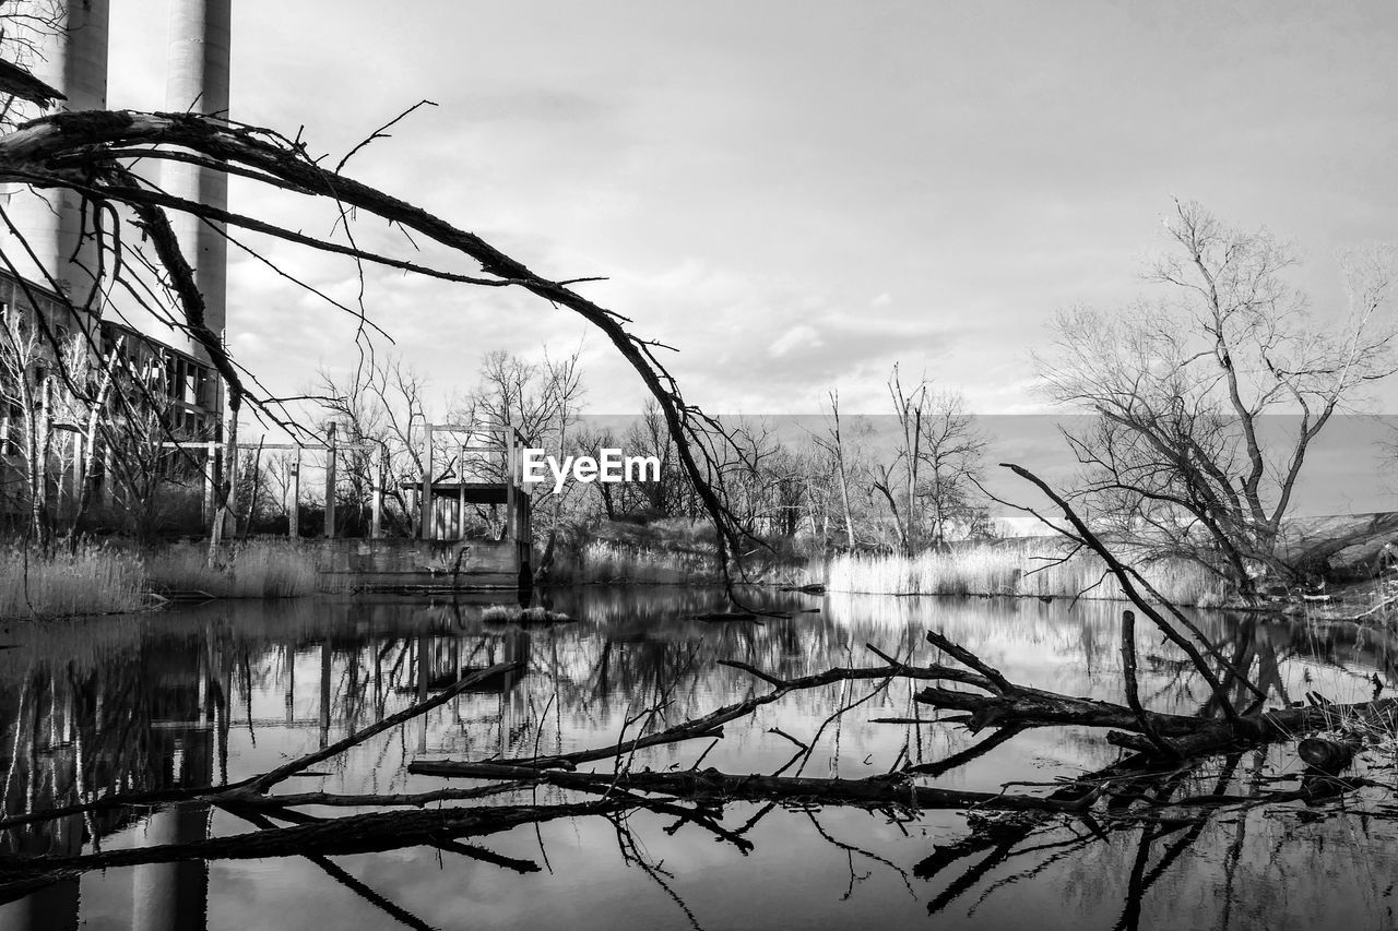
[[[62,6],[57,29],[35,29],[29,36],[36,55],[28,64],[35,77],[69,98],[49,112],[106,109],[108,0],[67,0]],[[0,201],[22,242],[0,224],[0,249],[22,277],[49,287],[52,275],[60,291],[85,303],[92,295],[98,250],[95,239],[82,236],[84,226],[91,232],[92,218],[84,218],[81,199],[70,192],[7,187]]]

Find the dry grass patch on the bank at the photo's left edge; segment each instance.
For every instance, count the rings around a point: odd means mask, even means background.
[[[0,549],[0,616],[60,618],[138,611],[148,605],[145,568],[136,554],[85,544],[75,555]]]

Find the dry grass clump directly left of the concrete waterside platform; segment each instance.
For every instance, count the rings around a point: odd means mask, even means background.
[[[222,554],[210,566],[203,545],[182,544],[148,555],[151,586],[201,591],[217,598],[294,598],[316,591],[316,561],[294,542],[254,541]]]

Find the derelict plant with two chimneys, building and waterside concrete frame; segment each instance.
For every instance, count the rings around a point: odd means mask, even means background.
[[[63,17],[57,28],[35,32],[38,49],[28,64],[39,80],[64,95],[66,99],[57,101],[55,109],[106,109],[110,0],[63,0],[56,6],[63,8]],[[229,49],[231,0],[171,0],[164,109],[226,117]],[[152,180],[172,197],[211,207],[215,212],[226,211],[226,172],[173,158],[159,159],[159,178]],[[178,313],[161,309],[151,315],[143,313],[141,308],[126,306],[133,302],[124,294],[130,288],[119,288],[110,273],[116,264],[116,257],[110,254],[112,233],[98,226],[99,211],[91,203],[84,203],[69,190],[28,186],[0,192],[0,203],[17,231],[15,235],[0,233],[0,256],[4,259],[0,261],[0,316],[6,322],[0,344],[31,344],[25,358],[14,358],[13,352],[11,358],[6,358],[6,345],[0,345],[0,396],[4,397],[0,404],[0,516],[8,516],[11,521],[32,519],[31,526],[39,526],[42,521],[34,516],[42,512],[43,520],[75,530],[78,521],[85,519],[82,509],[88,502],[102,499],[110,491],[113,464],[123,464],[116,461],[123,450],[113,450],[117,442],[112,436],[122,433],[119,428],[130,426],[134,418],[141,418],[145,431],[141,442],[147,452],[155,450],[159,474],[183,481],[189,489],[185,496],[187,506],[192,512],[201,512],[203,527],[211,527],[215,484],[218,477],[224,475],[226,481],[232,472],[221,457],[226,454],[231,463],[236,463],[238,450],[225,443],[225,391],[208,349],[187,329],[159,319],[143,323],[145,317],[162,315],[178,319]],[[194,282],[204,301],[204,323],[222,338],[228,317],[228,239],[224,229],[217,222],[183,211],[169,211],[169,222],[180,252],[193,267]],[[28,324],[22,323],[25,320]],[[43,324],[39,327],[45,331],[43,340],[36,335],[36,322]],[[53,358],[59,347],[73,349],[70,361],[74,365],[67,366],[70,372],[62,372],[64,366]],[[66,349],[64,356],[69,358]],[[69,398],[71,403],[64,404],[60,396],[64,380],[71,375],[77,375],[77,380],[106,379],[115,386],[115,400],[96,396],[99,400]],[[15,382],[20,384],[15,386]],[[98,435],[94,411],[106,418],[105,440]],[[124,422],[122,418],[126,418]],[[426,424],[422,472],[412,477],[387,475],[382,449],[366,449],[373,443],[351,443],[348,438],[337,443],[334,425],[327,426],[324,445],[253,445],[245,440],[245,449],[256,446],[257,454],[261,450],[295,450],[291,486],[287,489],[292,499],[288,533],[302,535],[296,517],[302,453],[315,450],[324,457],[323,535],[337,535],[336,459],[354,450],[372,460],[376,472],[372,479],[373,517],[363,530],[370,538],[383,535],[383,495],[386,488],[396,486],[394,491],[400,492],[396,496],[404,502],[405,510],[414,512],[418,538],[400,541],[407,547],[382,541],[370,548],[372,558],[366,558],[361,548],[350,551],[329,545],[327,572],[391,576],[393,584],[410,584],[414,576],[428,582],[440,579],[439,563],[450,558],[453,584],[471,576],[475,584],[507,587],[527,577],[531,544],[528,493],[520,484],[517,450],[521,438],[513,426],[500,425],[503,436],[488,438],[485,446],[475,446],[478,439],[460,438],[473,432],[471,428],[438,425],[433,431],[433,425]],[[136,436],[140,431],[126,429],[124,433]],[[457,436],[447,440],[449,435]],[[433,467],[435,445],[446,454],[446,468]],[[468,454],[480,460],[482,453],[499,457],[484,477],[467,466]],[[254,468],[256,461],[254,457]],[[147,471],[155,470],[147,464]],[[201,503],[201,509],[196,502]],[[467,520],[468,507],[489,514],[488,535],[492,537],[471,541],[470,563],[464,558],[452,558],[466,552],[461,544],[471,523]],[[189,520],[193,521],[192,513]],[[192,527],[180,530],[187,533]],[[225,533],[232,535],[226,526]]]

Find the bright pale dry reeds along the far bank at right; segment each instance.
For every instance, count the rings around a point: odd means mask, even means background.
[[[960,547],[917,556],[836,556],[826,568],[832,591],[871,594],[1037,596],[1125,600],[1121,587],[1092,554],[1055,562],[1060,549],[1047,541]],[[1216,607],[1223,586],[1204,569],[1184,561],[1160,561],[1141,573],[1169,601]]]

